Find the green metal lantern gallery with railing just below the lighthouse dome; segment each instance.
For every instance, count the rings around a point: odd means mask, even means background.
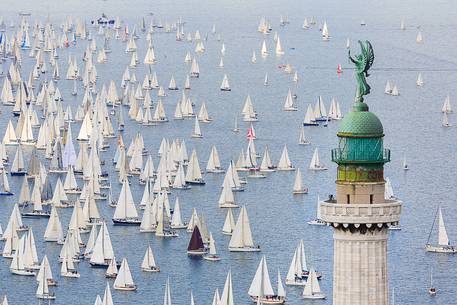
[[[390,162],[390,149],[384,148],[379,152],[367,150],[350,151],[348,149],[332,149],[332,161],[337,164],[384,164]]]

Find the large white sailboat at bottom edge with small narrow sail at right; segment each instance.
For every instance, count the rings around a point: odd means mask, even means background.
[[[279,274],[278,274],[279,275]],[[275,294],[268,274],[268,267],[265,255],[262,256],[257,271],[252,279],[248,294],[251,300],[257,304],[283,304],[285,299],[284,288],[281,280],[278,280],[278,293]],[[280,295],[281,294],[281,295]]]

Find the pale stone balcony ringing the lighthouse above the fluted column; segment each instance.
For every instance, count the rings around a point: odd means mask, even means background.
[[[401,205],[402,202],[396,199],[374,204],[341,204],[336,200],[319,202],[321,219],[335,227],[396,225],[400,221]]]

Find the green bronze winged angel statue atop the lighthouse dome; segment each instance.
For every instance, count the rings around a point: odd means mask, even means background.
[[[349,60],[351,60],[355,65],[356,79],[357,79],[357,94],[355,100],[357,102],[363,102],[363,96],[370,93],[370,85],[368,85],[366,78],[370,76],[368,70],[373,65],[374,53],[373,47],[368,40],[360,41],[360,48],[362,53],[356,55],[355,58],[351,56],[351,51],[349,50]]]

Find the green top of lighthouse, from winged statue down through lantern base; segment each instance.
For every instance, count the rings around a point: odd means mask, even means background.
[[[366,82],[374,55],[370,42],[359,41],[361,54],[350,60],[355,65],[357,93],[352,111],[340,123],[338,148],[332,150],[332,161],[338,164],[339,181],[383,181],[384,163],[390,161],[390,150],[384,148],[381,120],[369,111],[364,96],[370,93]]]

